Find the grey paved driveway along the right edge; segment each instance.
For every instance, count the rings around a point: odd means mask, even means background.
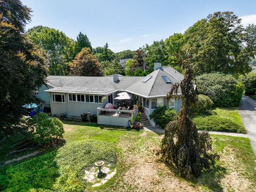
[[[256,154],[256,101],[243,96],[238,111],[247,131],[247,136],[251,140],[252,149]]]

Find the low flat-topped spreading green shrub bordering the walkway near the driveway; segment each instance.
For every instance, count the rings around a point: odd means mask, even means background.
[[[245,133],[241,125],[228,118],[219,117],[217,115],[199,116],[193,118],[198,130],[205,131],[221,131],[232,133]]]

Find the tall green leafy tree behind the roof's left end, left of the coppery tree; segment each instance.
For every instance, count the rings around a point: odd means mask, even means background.
[[[46,50],[50,75],[67,75],[68,63],[75,57],[75,41],[63,32],[43,26],[29,29],[28,38]]]

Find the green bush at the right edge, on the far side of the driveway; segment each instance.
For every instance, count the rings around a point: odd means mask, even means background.
[[[251,72],[246,74],[245,76],[239,77],[239,79],[243,82],[245,86],[245,94],[253,95],[256,91],[256,73]]]

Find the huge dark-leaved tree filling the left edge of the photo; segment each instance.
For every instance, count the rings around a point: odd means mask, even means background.
[[[22,34],[30,18],[30,9],[20,1],[15,1],[15,5],[11,0],[0,3],[1,9],[2,6],[9,9],[0,14],[1,137],[2,134],[10,134],[12,128],[19,123],[23,113],[22,105],[35,102],[35,90],[44,83],[47,68],[44,51]]]

